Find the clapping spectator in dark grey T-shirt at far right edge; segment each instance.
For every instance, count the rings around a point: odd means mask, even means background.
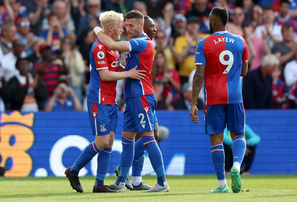
[[[271,52],[273,54],[278,54],[279,63],[281,64],[281,77],[283,77],[285,66],[288,62],[295,59],[296,52],[296,42],[293,36],[293,26],[284,25],[282,28],[283,41],[277,44],[274,44]]]

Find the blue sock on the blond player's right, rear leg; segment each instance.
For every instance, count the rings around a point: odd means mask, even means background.
[[[95,187],[100,186],[101,184],[104,183],[104,178],[108,172],[108,168],[109,168],[109,164],[110,164],[110,156],[111,156],[111,148],[110,147],[105,147],[98,154]],[[96,184],[97,184],[97,186],[96,186]]]

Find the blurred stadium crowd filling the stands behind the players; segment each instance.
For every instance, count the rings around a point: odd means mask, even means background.
[[[297,108],[297,0],[0,0],[0,111],[87,111],[92,30],[101,26],[101,12],[133,9],[149,15],[157,29],[156,109],[189,110],[196,45],[209,36],[215,6],[228,9],[227,31],[247,43],[245,108]],[[129,40],[123,28],[120,40]],[[124,57],[120,53],[122,64]],[[120,109],[123,88],[118,81]],[[197,106],[204,108],[203,90]]]

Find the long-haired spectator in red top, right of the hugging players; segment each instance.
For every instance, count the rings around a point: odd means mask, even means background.
[[[166,57],[163,51],[156,53],[151,70],[154,82],[164,85],[162,96],[166,98],[168,93],[172,94],[172,101],[176,101],[178,93],[181,90],[181,80],[176,69],[168,69]]]

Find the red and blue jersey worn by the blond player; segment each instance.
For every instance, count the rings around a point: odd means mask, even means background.
[[[90,52],[90,83],[87,102],[116,104],[116,81],[103,81],[98,70],[119,71],[118,51],[108,50],[99,39],[94,42]]]

